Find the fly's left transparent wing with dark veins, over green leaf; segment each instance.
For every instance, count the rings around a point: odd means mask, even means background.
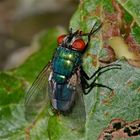
[[[25,95],[25,117],[28,121],[33,120],[49,103],[47,89],[50,72],[51,62],[43,68]]]

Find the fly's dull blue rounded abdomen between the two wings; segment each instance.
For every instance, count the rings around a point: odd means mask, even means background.
[[[58,84],[50,81],[49,92],[52,106],[59,111],[68,111],[75,100],[75,92],[73,87],[69,87],[66,83]]]

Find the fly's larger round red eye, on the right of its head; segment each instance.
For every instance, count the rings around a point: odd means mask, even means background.
[[[85,48],[85,42],[83,39],[76,39],[73,44],[72,48],[78,51],[83,51]]]

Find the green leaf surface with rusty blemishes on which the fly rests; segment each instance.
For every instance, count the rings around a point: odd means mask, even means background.
[[[125,9],[124,20],[136,20],[132,29],[134,38],[139,39],[139,14],[138,0],[117,0]],[[89,32],[96,21],[102,20],[104,11],[114,13],[110,0],[84,0],[70,21],[74,30],[81,29]],[[10,71],[0,73],[0,139],[23,140],[29,136],[31,140],[96,140],[101,131],[108,126],[114,118],[134,121],[140,118],[140,69],[128,64],[126,60],[117,60],[115,63],[122,65],[121,70],[110,70],[98,79],[98,83],[105,84],[114,89],[110,92],[104,88],[94,88],[84,97],[86,106],[85,131],[71,129],[74,118],[59,116],[44,110],[35,120],[35,124],[25,120],[24,95],[42,68],[51,60],[55,52],[56,38],[62,31],[49,30],[40,35],[40,50],[33,54],[22,66]],[[102,52],[102,39],[100,32],[91,39],[90,48],[83,58],[86,72],[91,75],[95,66],[92,55],[97,58]],[[139,41],[137,41],[139,43]],[[91,54],[88,55],[88,53]],[[77,118],[78,118],[77,114]],[[73,119],[73,120],[72,120]],[[25,131],[26,130],[26,131]],[[133,138],[137,139],[137,138]]]

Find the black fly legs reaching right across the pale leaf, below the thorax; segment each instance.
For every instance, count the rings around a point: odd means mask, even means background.
[[[93,75],[91,77],[89,77],[86,72],[83,70],[83,68],[81,68],[81,84],[82,84],[82,88],[84,91],[84,94],[88,94],[94,87],[103,87],[103,88],[107,88],[109,90],[113,90],[112,88],[103,85],[103,84],[99,84],[96,83],[96,80],[104,73],[107,72],[109,70],[112,69],[121,69],[121,65],[119,64],[112,64],[112,65],[107,65],[104,67],[99,67],[97,71],[95,71],[93,73]],[[88,80],[93,79],[93,81],[89,84]]]

